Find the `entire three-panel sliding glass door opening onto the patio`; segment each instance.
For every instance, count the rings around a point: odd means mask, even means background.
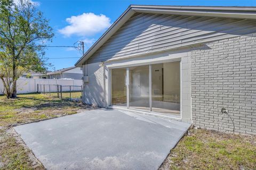
[[[180,115],[180,61],[111,69],[111,104]]]

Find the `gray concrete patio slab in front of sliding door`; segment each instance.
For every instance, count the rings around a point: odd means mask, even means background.
[[[121,110],[14,127],[46,169],[157,169],[189,124]]]

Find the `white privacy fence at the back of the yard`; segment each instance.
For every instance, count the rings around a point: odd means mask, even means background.
[[[45,86],[62,85],[62,86],[82,86],[82,80],[75,79],[33,79],[33,78],[19,78],[17,80],[17,93],[34,93],[37,92],[37,84]],[[39,87],[40,88],[40,87]],[[53,89],[52,89],[53,90]],[[75,90],[75,89],[74,89]],[[2,80],[0,80],[0,94],[4,91]],[[69,88],[63,89],[69,91]]]

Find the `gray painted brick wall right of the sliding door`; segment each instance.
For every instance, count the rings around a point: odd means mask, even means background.
[[[229,133],[235,127],[235,133],[255,135],[256,34],[194,47],[191,98],[196,126]]]

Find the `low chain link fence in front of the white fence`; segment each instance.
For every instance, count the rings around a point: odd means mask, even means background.
[[[37,93],[55,96],[60,99],[82,101],[83,86],[37,84]]]

